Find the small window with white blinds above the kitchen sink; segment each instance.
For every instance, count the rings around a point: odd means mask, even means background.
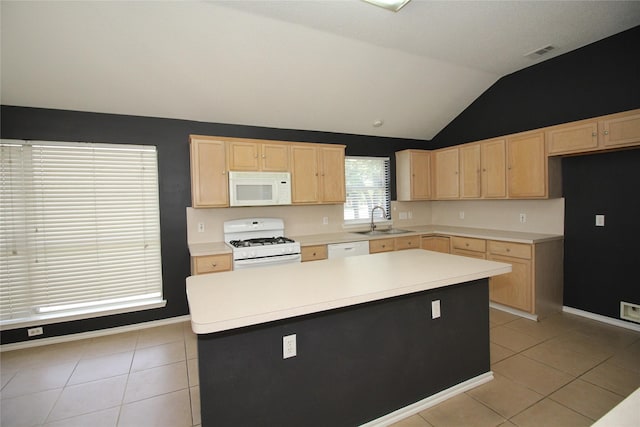
[[[388,157],[347,156],[345,158],[347,200],[344,204],[344,220],[346,223],[370,221],[371,209],[374,206],[382,206],[386,215],[384,219],[390,219],[389,168]],[[379,209],[376,209],[374,218],[383,218]]]

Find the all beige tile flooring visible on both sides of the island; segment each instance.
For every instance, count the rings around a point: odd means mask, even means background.
[[[491,310],[495,379],[396,423],[588,426],[640,387],[640,333],[559,314]],[[0,425],[200,424],[188,322],[0,354]]]

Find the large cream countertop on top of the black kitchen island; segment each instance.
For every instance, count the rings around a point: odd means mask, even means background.
[[[509,272],[510,264],[406,250],[191,276],[187,299],[193,331],[209,334]]]

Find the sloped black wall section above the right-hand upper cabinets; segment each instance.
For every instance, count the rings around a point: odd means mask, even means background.
[[[640,108],[639,50],[640,26],[503,77],[430,147]]]

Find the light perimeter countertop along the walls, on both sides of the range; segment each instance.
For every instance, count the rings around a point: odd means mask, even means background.
[[[448,225],[420,225],[398,227],[409,230],[408,233],[367,236],[356,232],[344,231],[341,233],[310,234],[303,236],[287,236],[300,242],[301,246],[327,245],[331,243],[359,242],[374,239],[387,239],[393,237],[414,235],[445,235],[474,237],[478,239],[501,240],[515,243],[542,243],[551,240],[562,240],[564,236],[558,234],[525,233],[521,231],[491,230],[486,228],[453,227]],[[384,229],[380,227],[380,229]],[[191,256],[206,256],[231,253],[231,248],[224,242],[193,243],[189,245]]]

